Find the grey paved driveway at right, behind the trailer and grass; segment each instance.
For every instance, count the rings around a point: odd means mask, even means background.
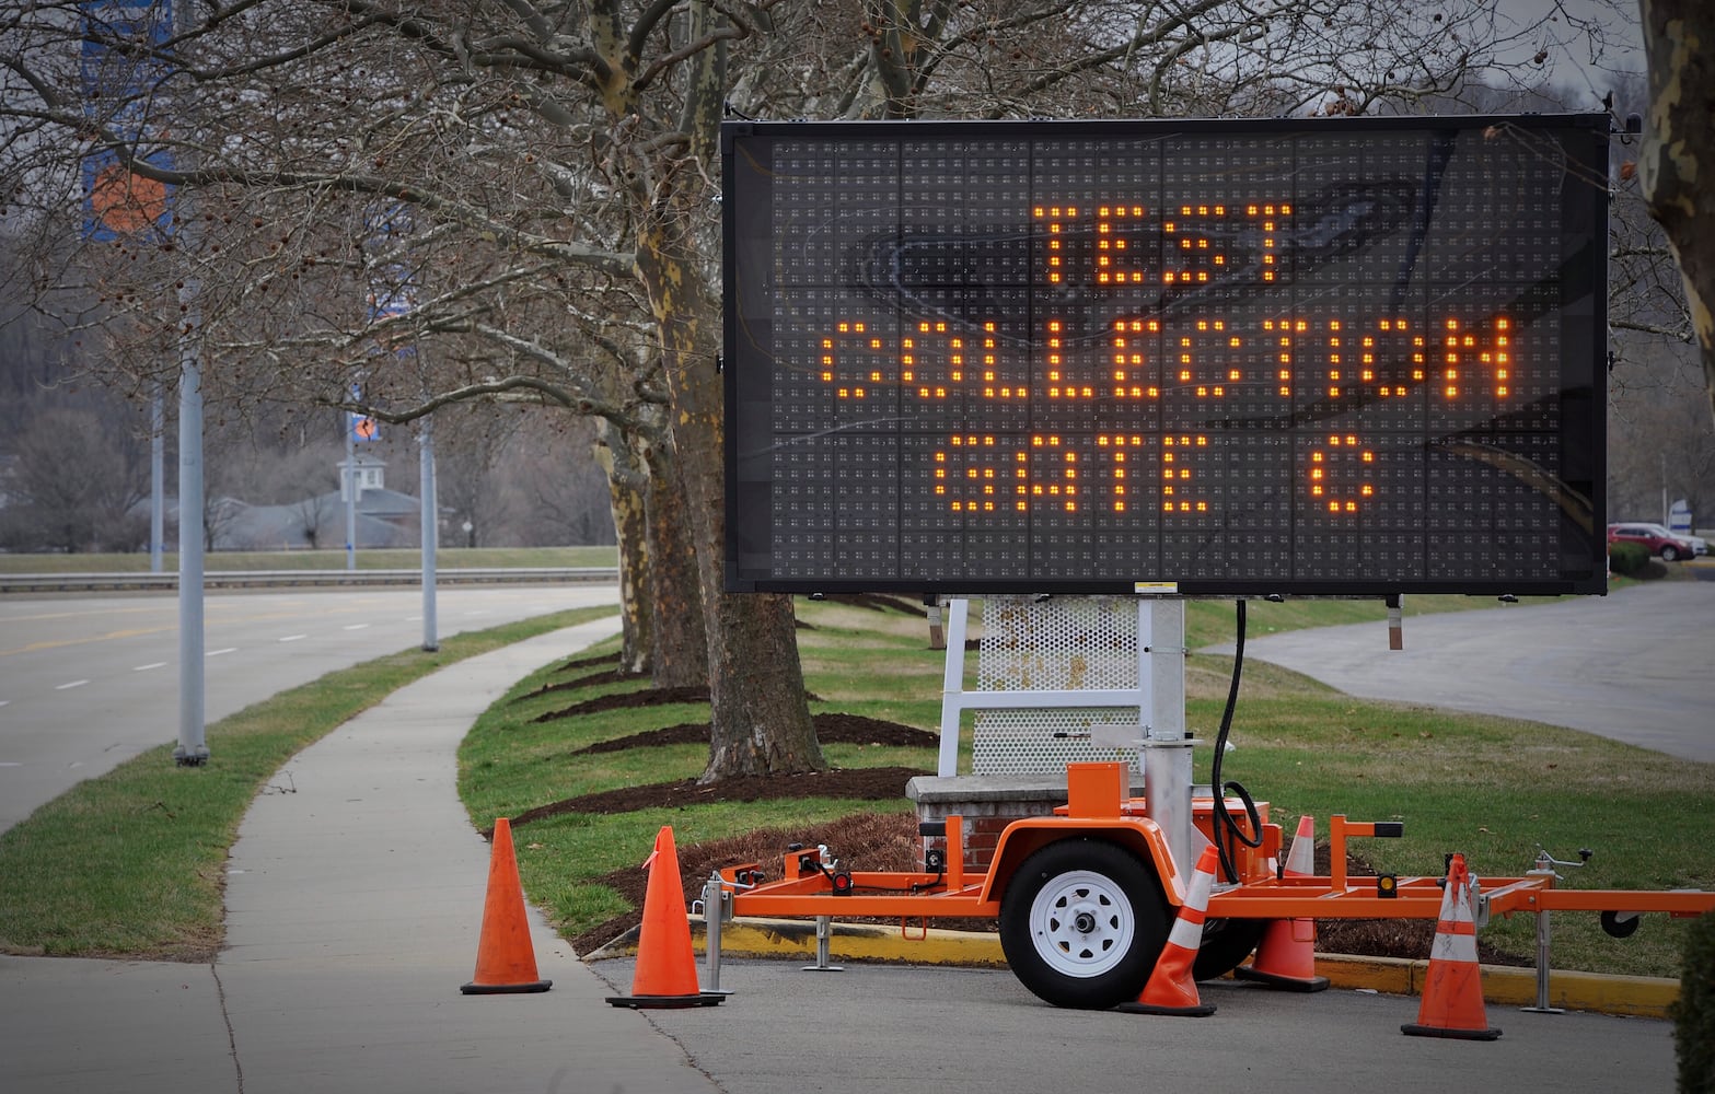
[[[1387,648],[1386,622],[1252,633],[1245,657],[1363,698],[1568,725],[1715,763],[1712,648],[1715,583],[1658,581],[1408,617],[1405,650]]]

